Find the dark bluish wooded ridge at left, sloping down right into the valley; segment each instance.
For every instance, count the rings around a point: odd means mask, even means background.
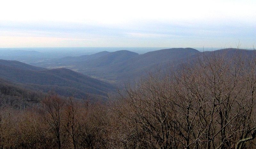
[[[25,69],[10,66],[13,61],[4,61],[0,63],[0,77],[15,83],[27,89],[40,90],[48,92],[50,90],[63,96],[75,96],[85,98],[88,96],[107,97],[108,91],[113,91],[114,86],[100,80],[82,75],[80,73],[68,70],[66,68],[52,70],[37,70],[37,67]],[[20,65],[22,63],[19,63]],[[23,67],[22,67],[23,68]],[[33,70],[34,68],[34,70]]]

